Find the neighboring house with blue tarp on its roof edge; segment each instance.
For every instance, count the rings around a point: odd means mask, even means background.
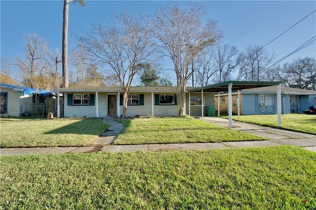
[[[35,113],[35,93],[34,88],[22,87],[0,83],[0,114],[1,116],[22,116]],[[38,90],[38,112],[46,115],[46,102],[52,98],[53,92]]]

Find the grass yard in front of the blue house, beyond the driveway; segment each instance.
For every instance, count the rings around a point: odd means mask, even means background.
[[[225,116],[228,118],[228,116]],[[238,120],[238,116],[233,116]],[[240,115],[240,121],[254,123],[263,126],[277,127],[277,115]],[[316,115],[309,114],[282,114],[281,128],[299,131],[309,134],[316,134]]]

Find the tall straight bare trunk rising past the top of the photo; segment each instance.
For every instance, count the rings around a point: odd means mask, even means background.
[[[63,87],[69,86],[68,81],[68,16],[69,2],[79,2],[82,6],[85,5],[83,0],[64,0],[63,10],[63,46],[62,46],[62,69],[63,69]]]

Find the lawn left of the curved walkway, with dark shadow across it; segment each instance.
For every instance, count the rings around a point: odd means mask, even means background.
[[[1,118],[1,147],[87,146],[109,127],[100,119]]]

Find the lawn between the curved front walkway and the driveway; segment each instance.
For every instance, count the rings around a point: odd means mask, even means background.
[[[191,118],[145,118],[117,120],[124,128],[114,144],[189,143],[265,140]]]

